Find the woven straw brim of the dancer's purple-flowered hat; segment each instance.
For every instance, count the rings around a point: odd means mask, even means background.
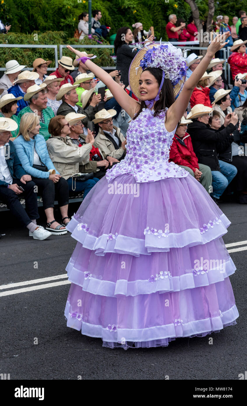
[[[130,67],[129,67],[129,86],[131,88],[132,93],[134,93],[135,97],[140,99],[140,93],[139,93],[139,79],[141,76],[141,73],[143,72],[142,67],[140,67],[140,61],[144,58],[144,55],[150,48],[157,48],[160,47],[160,44],[154,44],[150,43],[150,45],[146,45],[144,48],[140,49],[140,51],[137,52],[135,57],[133,58]],[[180,81],[173,86],[173,93],[174,96],[178,95],[180,92],[181,88],[183,87],[183,84],[185,82],[186,76],[183,76]]]

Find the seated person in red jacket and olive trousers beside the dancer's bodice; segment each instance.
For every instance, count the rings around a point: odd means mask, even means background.
[[[209,193],[212,185],[211,169],[207,165],[198,164],[191,138],[186,132],[189,123],[193,121],[186,120],[184,117],[178,123],[170,149],[169,162],[175,162],[181,168],[185,168]]]

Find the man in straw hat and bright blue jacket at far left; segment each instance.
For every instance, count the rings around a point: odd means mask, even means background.
[[[15,113],[18,116],[19,112],[28,106],[28,102],[24,100],[24,95],[26,94],[27,89],[30,86],[35,84],[35,79],[39,78],[39,73],[37,72],[30,72],[24,71],[19,73],[17,76],[17,80],[14,81],[14,86],[11,86],[8,90],[8,93],[12,93],[15,97],[23,97],[23,99],[19,100],[18,108]]]

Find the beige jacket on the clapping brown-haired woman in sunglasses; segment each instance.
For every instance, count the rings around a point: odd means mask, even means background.
[[[78,147],[72,143],[69,136],[66,138],[50,136],[46,145],[56,170],[66,180],[79,172],[79,165],[85,165],[89,162],[91,144]]]

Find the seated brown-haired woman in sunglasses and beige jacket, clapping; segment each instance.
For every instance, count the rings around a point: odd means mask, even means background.
[[[92,132],[88,130],[88,143],[79,147],[69,137],[70,127],[64,116],[54,117],[49,123],[51,136],[46,142],[47,149],[54,166],[59,168],[60,174],[67,180],[69,191],[75,193],[83,191],[83,197],[86,197],[99,179],[92,175],[92,178],[88,176],[87,180],[79,181],[74,175],[79,173],[79,165],[85,165],[89,162],[90,151],[95,138]]]

